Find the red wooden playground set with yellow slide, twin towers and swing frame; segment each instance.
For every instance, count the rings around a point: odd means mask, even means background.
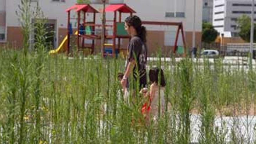
[[[77,31],[74,33],[77,37],[77,48],[79,49],[90,49],[90,54],[93,54],[95,49],[95,40],[101,39],[101,35],[97,35],[95,33],[95,29],[97,28],[104,28],[105,35],[104,35],[104,48],[101,49],[102,56],[116,56],[118,53],[123,52],[125,53],[127,51],[127,48],[121,48],[120,47],[120,40],[121,39],[130,39],[130,36],[127,34],[127,32],[124,29],[124,22],[121,22],[122,20],[122,13],[128,13],[132,15],[133,13],[136,13],[132,8],[127,6],[126,4],[110,4],[105,8],[105,12],[111,12],[113,13],[113,19],[112,20],[105,20],[105,24],[95,24],[96,20],[96,13],[99,13],[95,8],[93,8],[90,5],[85,4],[75,4],[71,6],[70,8],[66,9],[66,12],[68,14],[68,20],[67,20],[67,35],[64,38],[64,40],[61,42],[60,46],[49,52],[49,54],[56,54],[60,52],[66,51],[66,54],[70,54],[70,35],[72,34],[72,25],[70,23],[70,11],[75,10],[77,13]],[[81,13],[83,13],[83,18],[81,19]],[[87,22],[86,21],[86,13],[93,13],[93,21]],[[117,19],[117,14],[119,14],[119,17]],[[81,23],[82,20],[82,23]],[[186,55],[186,43],[184,38],[184,31],[183,31],[183,25],[182,22],[152,22],[152,21],[143,21],[142,24],[145,25],[164,25],[164,26],[178,26],[177,32],[176,32],[176,38],[175,43],[173,47],[173,53],[175,54],[177,51],[177,40],[179,37],[179,31],[181,31],[182,34],[182,41],[184,46],[184,55]],[[106,29],[109,28],[110,31],[112,31],[112,34],[106,35]],[[85,44],[84,40],[92,40],[92,43],[90,45]],[[116,39],[118,40],[116,44]],[[111,43],[106,43],[106,40],[112,40]]]

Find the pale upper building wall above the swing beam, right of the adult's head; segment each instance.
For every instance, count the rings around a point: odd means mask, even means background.
[[[143,21],[182,22],[185,31],[193,31],[193,0],[125,0],[125,3],[133,8],[135,15]],[[195,6],[195,31],[202,31],[202,0],[195,0]],[[175,11],[184,12],[185,17],[165,17],[166,12]]]

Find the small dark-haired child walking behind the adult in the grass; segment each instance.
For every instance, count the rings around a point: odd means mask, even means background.
[[[149,79],[151,83],[150,91],[147,93],[147,95],[145,95],[147,102],[143,105],[141,112],[146,116],[147,119],[153,118],[153,120],[157,120],[159,107],[160,114],[162,115],[165,105],[164,87],[166,83],[164,80],[163,70],[157,67],[150,69]]]

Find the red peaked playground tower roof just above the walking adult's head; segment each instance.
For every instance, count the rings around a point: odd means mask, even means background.
[[[105,8],[106,12],[114,12],[119,11],[121,13],[136,13],[133,9],[131,9],[126,4],[111,4]]]

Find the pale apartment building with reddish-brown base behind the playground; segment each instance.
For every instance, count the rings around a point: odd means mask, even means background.
[[[67,13],[65,9],[75,3],[76,0],[39,0],[39,5],[45,17],[48,18],[47,25],[54,31],[51,41],[55,48],[58,47],[67,33]],[[141,17],[143,21],[182,22],[187,46],[192,47],[193,30],[195,31],[196,46],[201,42],[202,0],[195,0],[195,3],[192,0],[108,0],[107,3],[126,3],[136,11],[136,15]],[[7,42],[15,47],[19,47],[22,44],[21,29],[15,13],[19,4],[19,0],[0,0],[0,34],[4,34],[4,38],[0,42]],[[32,6],[35,4],[32,1]],[[91,5],[97,10],[102,8],[101,0],[91,0]],[[1,16],[2,14],[6,16]],[[107,19],[113,18],[112,13],[107,13],[106,15]],[[122,20],[126,16],[128,15],[123,15]],[[71,17],[75,18],[76,14],[71,13]],[[5,20],[3,21],[2,19],[4,18]],[[88,20],[91,18],[90,15],[87,16]],[[96,19],[97,23],[100,24],[101,14],[97,14]],[[75,28],[76,20],[74,19],[72,23]],[[158,47],[168,51],[174,45],[176,26],[145,26],[148,32],[147,39],[150,52],[156,51]],[[31,39],[33,39],[33,35],[31,35]],[[99,43],[100,41],[97,42]],[[126,41],[122,42],[124,47],[126,47],[126,44]],[[178,45],[183,45],[180,35]]]

